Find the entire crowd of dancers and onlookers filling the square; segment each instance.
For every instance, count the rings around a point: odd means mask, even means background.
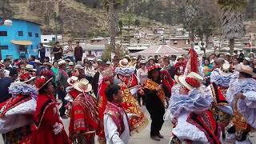
[[[256,59],[237,52],[199,57],[84,58],[79,43],[44,56],[4,59],[0,65],[0,133],[5,143],[127,144],[149,123],[161,141],[171,120],[170,143],[248,143],[256,128]],[[69,135],[62,119],[70,118]],[[171,127],[170,127],[171,129]]]

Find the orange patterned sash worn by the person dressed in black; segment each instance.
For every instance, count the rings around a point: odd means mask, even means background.
[[[158,86],[159,84],[157,82],[154,82],[151,79],[147,79],[144,87],[149,90],[156,90]],[[166,94],[163,89],[158,91],[158,98],[162,101],[162,105],[165,106]]]

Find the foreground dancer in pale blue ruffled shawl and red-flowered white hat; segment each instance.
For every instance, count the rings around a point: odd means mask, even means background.
[[[203,78],[194,72],[178,77],[178,93],[170,98],[170,114],[174,129],[170,143],[221,143],[218,124],[210,112],[210,90],[202,85]]]

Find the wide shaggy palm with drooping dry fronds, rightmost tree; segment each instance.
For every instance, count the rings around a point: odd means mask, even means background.
[[[221,25],[225,38],[230,40],[230,53],[234,52],[234,39],[243,35],[243,11],[247,0],[218,0],[221,8]]]

